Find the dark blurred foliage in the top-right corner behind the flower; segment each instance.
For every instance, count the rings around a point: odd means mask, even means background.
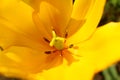
[[[120,0],[107,0],[103,17],[99,25],[120,21]]]

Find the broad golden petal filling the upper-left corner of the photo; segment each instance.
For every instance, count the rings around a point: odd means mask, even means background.
[[[21,0],[0,1],[0,23],[7,24],[9,28],[31,39],[39,39],[40,33],[33,23],[32,12],[33,9]]]

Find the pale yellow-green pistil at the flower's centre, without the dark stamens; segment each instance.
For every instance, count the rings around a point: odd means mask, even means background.
[[[49,45],[51,47],[55,47],[57,50],[63,50],[65,38],[57,36],[55,31],[52,31],[52,35],[53,35],[53,38]]]

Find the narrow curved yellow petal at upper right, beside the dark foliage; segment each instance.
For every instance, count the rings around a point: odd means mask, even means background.
[[[102,16],[105,0],[76,0],[72,17],[76,20],[85,20],[79,30],[70,37],[68,43],[87,39],[95,31]],[[87,6],[87,7],[86,7]],[[79,38],[76,38],[78,37]]]

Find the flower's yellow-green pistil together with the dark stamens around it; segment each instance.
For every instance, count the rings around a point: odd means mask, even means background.
[[[48,50],[48,51],[45,51],[45,53],[46,54],[51,54],[51,53],[56,53],[58,51],[58,52],[60,52],[60,55],[62,56],[63,52],[65,50],[68,50],[69,48],[73,48],[75,50],[78,49],[78,47],[74,46],[74,44],[70,44],[69,46],[65,45],[67,35],[68,34],[66,33],[65,38],[59,37],[59,36],[56,35],[55,31],[53,30],[52,31],[52,40],[51,41],[49,41],[47,38],[43,37],[43,39],[47,43],[49,43],[49,46],[54,48],[54,50]],[[75,54],[72,54],[72,55],[75,55]],[[76,55],[76,56],[78,56],[78,55]]]

